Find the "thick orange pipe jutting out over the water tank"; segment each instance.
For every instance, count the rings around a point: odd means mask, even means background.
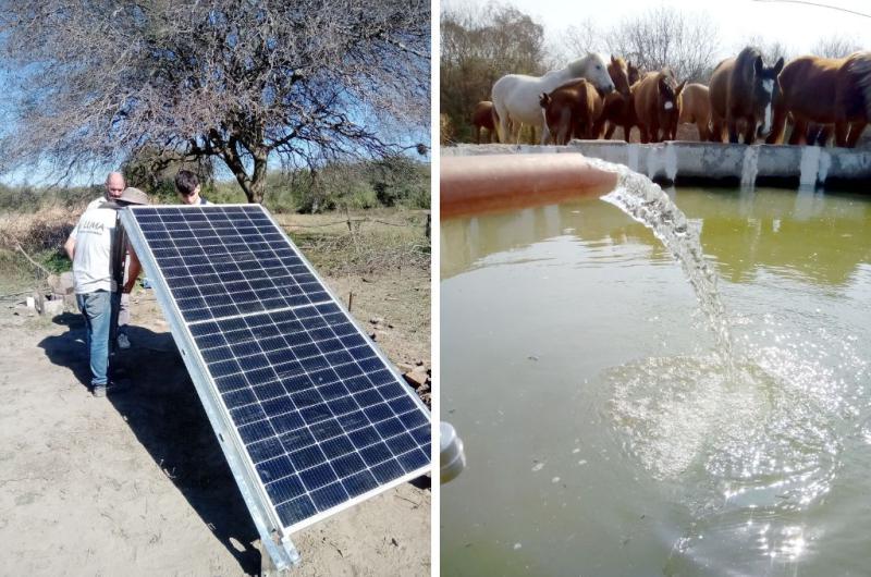
[[[442,157],[440,179],[443,218],[600,196],[617,186],[615,172],[578,154]]]

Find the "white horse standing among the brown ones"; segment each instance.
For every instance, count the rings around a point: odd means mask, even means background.
[[[496,134],[500,143],[507,143],[517,131],[520,138],[520,124],[541,128],[541,144],[548,142],[550,133],[541,113],[539,98],[542,93],[550,94],[563,84],[586,78],[603,95],[614,90],[614,82],[608,74],[605,60],[600,54],[587,54],[569,62],[565,67],[548,72],[543,76],[507,74],[493,85],[490,99],[499,114]]]

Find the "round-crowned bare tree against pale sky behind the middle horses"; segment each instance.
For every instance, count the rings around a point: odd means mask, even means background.
[[[717,33],[702,15],[660,7],[624,20],[605,35],[613,54],[643,70],[671,67],[679,79],[707,79],[716,64]]]

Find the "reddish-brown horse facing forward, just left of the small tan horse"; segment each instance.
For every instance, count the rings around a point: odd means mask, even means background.
[[[641,142],[674,140],[680,116],[680,91],[687,81],[677,84],[671,70],[648,72],[633,88],[635,116],[641,131]]]

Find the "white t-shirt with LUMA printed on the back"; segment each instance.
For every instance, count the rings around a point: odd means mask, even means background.
[[[73,280],[76,294],[96,291],[116,291],[112,279],[112,238],[114,237],[118,210],[100,208],[102,200],[95,200],[78,219],[71,238],[75,238]]]

